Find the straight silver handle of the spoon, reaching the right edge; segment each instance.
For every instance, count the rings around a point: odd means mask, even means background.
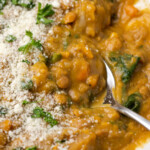
[[[141,115],[133,112],[132,110],[116,103],[115,105],[112,106],[114,109],[118,110],[120,113],[134,119],[135,121],[137,121],[138,123],[140,123],[141,125],[143,125],[145,128],[147,128],[148,130],[150,130],[150,121],[145,119],[144,117],[142,117]]]

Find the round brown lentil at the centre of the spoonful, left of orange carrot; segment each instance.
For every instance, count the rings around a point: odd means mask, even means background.
[[[56,83],[59,88],[66,89],[69,87],[69,78],[67,76],[62,76],[57,80]]]

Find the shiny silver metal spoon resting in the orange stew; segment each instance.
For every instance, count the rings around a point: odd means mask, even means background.
[[[111,69],[109,68],[106,61],[104,61],[106,72],[107,72],[107,94],[104,99],[104,104],[111,104],[112,108],[119,111],[120,113],[134,119],[145,128],[150,130],[150,121],[145,119],[144,117],[140,116],[139,114],[133,112],[132,110],[120,105],[115,98],[113,97],[112,89],[115,88],[115,79]]]

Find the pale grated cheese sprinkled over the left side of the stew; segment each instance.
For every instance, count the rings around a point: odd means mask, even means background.
[[[26,2],[26,1],[24,1]],[[30,54],[24,55],[18,52],[18,48],[29,42],[29,37],[25,35],[26,30],[33,33],[33,37],[36,40],[40,40],[44,43],[47,33],[51,31],[53,26],[45,26],[44,24],[36,24],[36,16],[38,10],[38,2],[42,5],[52,4],[54,6],[56,15],[54,15],[54,25],[59,23],[58,21],[62,17],[62,10],[60,0],[37,0],[36,6],[27,10],[20,6],[14,6],[11,2],[8,3],[3,9],[3,15],[0,15],[0,25],[4,28],[0,30],[0,106],[8,108],[8,113],[5,118],[1,117],[0,121],[10,119],[17,121],[19,127],[17,129],[8,132],[9,139],[14,140],[12,143],[18,147],[28,147],[36,144],[36,141],[42,142],[47,139],[48,136],[56,135],[59,136],[64,130],[63,124],[57,125],[51,128],[42,119],[33,119],[31,114],[33,109],[39,105],[38,103],[32,103],[27,106],[23,106],[24,100],[30,101],[49,101],[44,107],[45,110],[50,111],[51,114],[57,119],[64,117],[61,108],[55,107],[55,102],[50,94],[45,93],[31,93],[27,90],[20,88],[20,82],[23,79],[30,79],[32,74],[29,71],[30,66],[23,63],[22,60],[28,58],[33,64],[37,62],[37,58],[40,51],[34,49]],[[65,4],[69,5],[68,0],[63,0]],[[71,1],[70,1],[71,2]],[[58,21],[57,21],[58,20]],[[13,43],[5,41],[6,36],[13,35],[17,38]],[[71,129],[75,130],[75,129]],[[20,143],[15,143],[15,139],[20,138]],[[69,141],[73,142],[73,139]],[[5,149],[11,149],[6,147]],[[68,147],[63,145],[59,146],[61,150],[67,150]]]

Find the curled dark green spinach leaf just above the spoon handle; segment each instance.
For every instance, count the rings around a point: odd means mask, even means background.
[[[142,96],[140,93],[133,93],[128,97],[128,100],[123,104],[125,107],[135,111],[139,112]]]

